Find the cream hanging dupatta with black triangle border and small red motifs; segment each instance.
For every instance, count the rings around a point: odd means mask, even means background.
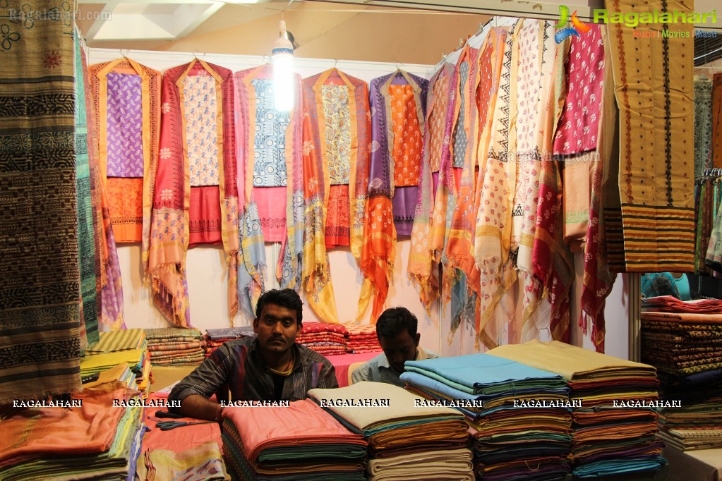
[[[513,28],[512,28],[513,31]],[[516,281],[516,270],[509,256],[511,238],[511,209],[516,162],[509,156],[510,93],[514,35],[501,28],[489,32],[487,47],[494,48],[490,60],[492,79],[498,79],[497,92],[490,102],[489,128],[482,131],[479,141],[479,181],[474,208],[477,212],[474,232],[474,261],[479,267],[479,317],[475,330],[479,341],[487,347],[496,345],[485,332],[494,309],[503,294]],[[492,110],[493,108],[493,110]],[[488,141],[485,138],[488,137]],[[488,149],[482,151],[484,145]]]

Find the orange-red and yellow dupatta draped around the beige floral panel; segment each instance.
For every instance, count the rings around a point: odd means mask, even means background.
[[[329,79],[340,79],[339,87],[347,89],[349,146],[338,146],[335,138],[329,138],[327,115],[339,116],[339,112],[326,112],[321,87]],[[331,178],[329,157],[347,156],[349,163],[350,247],[360,260],[363,245],[363,219],[365,217],[370,111],[368,87],[365,81],[348,76],[336,69],[327,70],[303,81],[303,179],[305,199],[305,243],[303,248],[303,288],[306,299],[318,317],[324,322],[337,324],[336,299],[331,285],[329,256],[326,252],[326,210],[329,203]],[[325,133],[322,134],[322,133]],[[345,136],[346,134],[344,134]],[[331,142],[331,144],[329,144]],[[335,149],[334,149],[335,148]],[[331,151],[332,149],[338,151]]]

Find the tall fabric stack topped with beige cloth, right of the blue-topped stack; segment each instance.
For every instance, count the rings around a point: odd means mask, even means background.
[[[656,441],[653,366],[558,341],[503,345],[488,354],[560,374],[570,387],[576,477],[653,476],[666,467]],[[666,469],[666,468],[665,468]]]

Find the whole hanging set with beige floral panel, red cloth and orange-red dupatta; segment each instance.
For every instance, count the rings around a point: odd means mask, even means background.
[[[304,79],[303,102],[303,288],[318,317],[337,323],[326,247],[350,245],[360,260],[370,154],[368,87],[327,70]]]

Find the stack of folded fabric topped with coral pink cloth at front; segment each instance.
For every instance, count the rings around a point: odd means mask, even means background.
[[[365,480],[367,444],[311,400],[227,407],[223,452],[234,479]]]

